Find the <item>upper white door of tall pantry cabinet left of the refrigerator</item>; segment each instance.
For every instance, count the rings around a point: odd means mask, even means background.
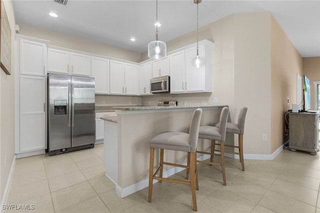
[[[45,76],[46,52],[46,44],[20,39],[20,74]]]

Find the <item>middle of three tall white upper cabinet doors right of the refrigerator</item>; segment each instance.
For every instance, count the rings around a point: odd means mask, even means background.
[[[124,63],[110,60],[110,94],[124,93]]]

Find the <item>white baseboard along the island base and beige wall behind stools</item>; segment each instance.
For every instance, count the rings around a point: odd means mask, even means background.
[[[281,145],[279,148],[277,148],[272,154],[244,154],[243,158],[244,159],[263,159],[263,160],[272,160],[283,148],[283,145]],[[239,155],[237,154],[229,154],[229,153],[225,153],[225,156],[227,157],[231,157],[231,158],[239,158]],[[206,160],[210,157],[210,155],[204,154],[202,156],[199,156],[197,159],[198,160]],[[186,165],[186,163],[183,163],[183,165]],[[163,177],[168,177],[171,176],[177,172],[182,171],[185,168],[181,168],[181,167],[173,167],[170,168],[166,171],[163,171]],[[153,183],[157,182],[157,180],[153,180]],[[135,184],[129,185],[125,188],[121,188],[120,186],[118,186],[115,183],[115,193],[123,198],[127,195],[130,195],[138,190],[141,190],[145,187],[147,187],[149,185],[149,180],[148,179],[144,179],[140,182],[137,182]]]

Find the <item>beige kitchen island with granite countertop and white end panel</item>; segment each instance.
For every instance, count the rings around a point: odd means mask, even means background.
[[[162,131],[188,132],[192,113],[199,107],[203,110],[201,125],[210,124],[218,120],[224,106],[228,105],[112,107],[117,117],[101,119],[104,119],[105,173],[115,183],[117,195],[124,197],[148,186],[148,142],[152,137]],[[233,137],[228,140],[233,142]],[[208,150],[209,147],[209,140],[198,143],[199,150]],[[159,150],[156,150],[155,157],[158,156]],[[186,153],[166,150],[164,160],[185,164]],[[180,170],[164,167],[163,176]]]

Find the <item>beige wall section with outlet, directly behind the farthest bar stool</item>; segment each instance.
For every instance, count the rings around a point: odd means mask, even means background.
[[[236,13],[234,23],[234,104],[247,106],[244,153],[271,154],[270,15]],[[262,133],[267,140],[262,140]]]

